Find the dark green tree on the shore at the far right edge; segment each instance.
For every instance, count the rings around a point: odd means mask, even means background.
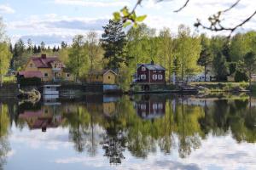
[[[249,52],[244,56],[244,69],[247,71],[247,77],[249,78],[249,87],[252,90],[252,74],[256,70],[256,54]]]

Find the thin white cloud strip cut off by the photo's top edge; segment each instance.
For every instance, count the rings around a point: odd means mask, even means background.
[[[85,7],[123,7],[129,6],[130,3],[127,1],[109,1],[109,0],[55,0],[56,4],[62,5],[78,5]]]

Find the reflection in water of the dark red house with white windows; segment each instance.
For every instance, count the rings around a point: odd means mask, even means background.
[[[142,99],[136,102],[137,115],[143,119],[152,119],[165,115],[166,100]]]

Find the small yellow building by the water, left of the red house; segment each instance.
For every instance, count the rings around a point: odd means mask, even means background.
[[[112,70],[91,71],[88,75],[88,82],[115,84],[117,74]]]

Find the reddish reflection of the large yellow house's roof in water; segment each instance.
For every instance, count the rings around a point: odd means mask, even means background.
[[[42,132],[46,132],[47,127],[58,127],[62,122],[61,116],[53,116],[42,110],[24,111],[19,118],[25,120],[30,129],[42,128]]]

